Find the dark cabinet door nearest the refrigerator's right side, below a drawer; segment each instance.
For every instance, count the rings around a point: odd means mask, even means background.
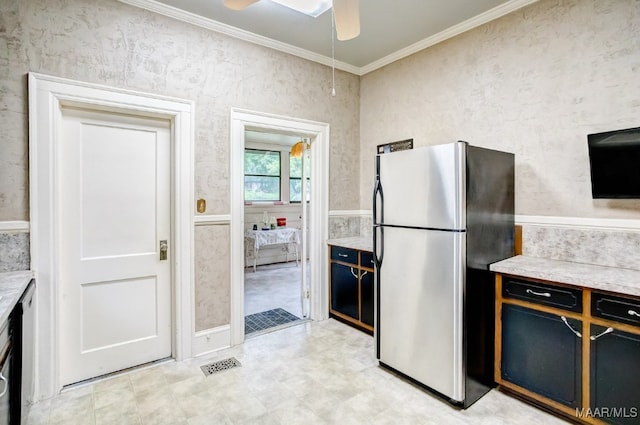
[[[578,320],[511,304],[502,306],[502,379],[581,407],[582,350]],[[573,328],[573,330],[571,328]]]

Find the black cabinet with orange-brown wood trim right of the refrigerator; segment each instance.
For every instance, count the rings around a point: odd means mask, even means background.
[[[573,421],[640,423],[640,272],[622,271],[639,279],[620,294],[598,283],[612,273],[600,266],[560,282],[496,264],[496,383]],[[548,276],[553,262],[541,264]]]

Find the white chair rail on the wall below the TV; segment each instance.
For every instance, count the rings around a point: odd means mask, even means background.
[[[592,230],[640,231],[640,220],[618,218],[553,217],[543,215],[516,215],[516,224],[545,227],[568,227]]]

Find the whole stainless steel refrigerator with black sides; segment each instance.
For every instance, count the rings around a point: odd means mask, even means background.
[[[514,156],[455,142],[375,169],[379,363],[466,408],[494,386],[489,264],[514,255]]]

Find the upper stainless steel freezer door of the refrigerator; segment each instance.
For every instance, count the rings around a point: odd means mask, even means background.
[[[464,229],[465,149],[456,142],[378,155],[379,224]]]

